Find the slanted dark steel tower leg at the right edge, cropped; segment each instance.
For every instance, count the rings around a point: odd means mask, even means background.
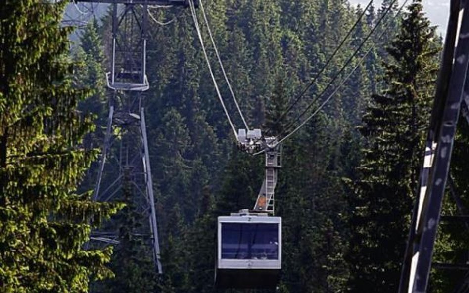
[[[451,155],[460,113],[469,123],[469,0],[451,0],[450,10],[399,293],[428,292],[432,267],[436,270],[457,270],[462,279],[455,284],[453,293],[469,293],[468,259],[461,259],[459,263],[432,261],[440,222],[459,222],[466,226],[466,230],[461,233],[469,233],[468,209],[464,207],[450,176]],[[458,215],[442,214],[446,187],[449,187]]]

